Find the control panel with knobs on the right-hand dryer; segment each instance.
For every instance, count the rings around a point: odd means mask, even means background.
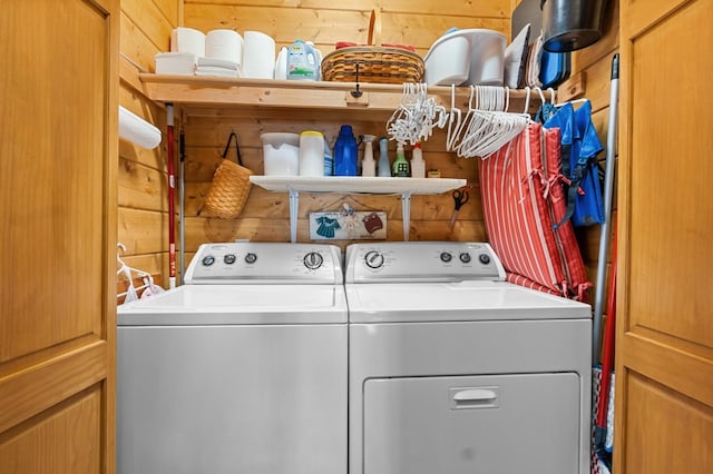
[[[346,247],[346,283],[504,279],[500,259],[484,243],[379,243]]]

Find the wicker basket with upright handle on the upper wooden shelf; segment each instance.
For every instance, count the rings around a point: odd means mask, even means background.
[[[378,9],[371,11],[369,46],[340,48],[322,60],[322,79],[335,82],[422,82],[424,71],[419,55],[381,46],[381,12]]]

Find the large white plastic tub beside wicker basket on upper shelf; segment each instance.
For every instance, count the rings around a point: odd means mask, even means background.
[[[456,30],[440,37],[426,55],[429,86],[502,86],[505,34],[495,30]]]

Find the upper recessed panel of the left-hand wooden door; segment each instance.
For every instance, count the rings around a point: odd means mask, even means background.
[[[36,3],[3,6],[0,27],[0,363],[102,330],[106,16]]]

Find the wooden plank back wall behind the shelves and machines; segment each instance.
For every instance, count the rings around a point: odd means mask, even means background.
[[[295,39],[311,39],[324,55],[340,40],[365,43],[369,17],[379,2],[328,0],[261,1],[250,0],[187,0],[185,24],[202,31],[216,28],[238,32],[257,30],[273,37],[277,46]],[[511,0],[455,2],[432,0],[388,2],[382,8],[382,41],[407,43],[426,55],[430,45],[450,27],[489,28],[509,36]],[[309,97],[305,97],[309,100]],[[350,124],[356,135],[385,135],[387,115],[360,115],[349,118],[334,113],[300,110],[232,110],[189,108],[184,110],[186,134],[186,253],[195,251],[205,241],[248,238],[263,241],[289,241],[289,199],[286,194],[267,192],[253,187],[250,199],[238,219],[207,219],[198,210],[211,186],[213,171],[231,130],[241,140],[245,166],[263,172],[260,135],[268,131],[300,132],[316,129],[333,144],[340,125]],[[438,168],[443,177],[467,178],[477,186],[475,160],[458,159],[445,152],[445,134],[437,132],[424,145],[428,168]],[[233,152],[233,151],[232,151]],[[407,155],[409,155],[407,152]],[[390,142],[390,156],[394,144]],[[377,154],[378,158],[378,154]],[[388,239],[401,240],[402,216],[400,197],[343,196],[339,194],[302,194],[300,197],[297,240],[309,240],[309,213],[339,209],[348,203],[356,210],[383,210],[388,216]],[[411,240],[482,240],[485,227],[478,189],[449,228],[453,210],[450,195],[414,196],[411,201]],[[341,246],[346,241],[338,243]]]

